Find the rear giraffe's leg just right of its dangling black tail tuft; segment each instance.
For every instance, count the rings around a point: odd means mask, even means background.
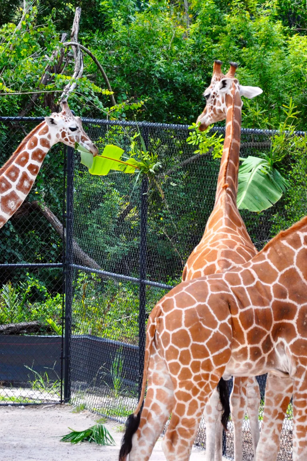
[[[230,411],[233,422],[233,438],[234,438],[234,459],[235,461],[243,460],[242,446],[242,424],[247,409],[246,395],[247,378],[233,378],[232,393],[230,396]]]

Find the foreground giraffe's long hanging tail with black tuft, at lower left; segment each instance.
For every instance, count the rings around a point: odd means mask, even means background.
[[[148,323],[147,323],[147,331],[146,331],[146,345],[145,345],[145,360],[144,360],[144,371],[143,371],[143,381],[142,381],[142,390],[141,395],[139,397],[139,403],[137,408],[135,409],[134,413],[130,414],[126,421],[126,430],[122,437],[122,445],[119,452],[119,461],[126,461],[127,455],[130,453],[132,449],[132,437],[135,432],[138,430],[139,422],[141,419],[141,408],[143,405],[143,400],[145,396],[146,384],[147,384],[147,376],[148,376],[148,368],[149,362],[151,359],[151,349],[152,343],[156,333],[157,327],[157,318],[161,314],[161,307],[155,306],[149,316]]]

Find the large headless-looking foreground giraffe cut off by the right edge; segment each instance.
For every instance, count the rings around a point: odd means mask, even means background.
[[[156,304],[147,323],[141,396],[127,420],[120,461],[127,453],[129,461],[147,461],[170,414],[162,449],[167,461],[187,461],[220,378],[266,372],[277,378],[274,393],[286,381],[286,404],[293,390],[293,460],[305,460],[307,216],[242,266],[182,282]],[[155,373],[160,380],[152,385]],[[271,459],[259,444],[256,460]]]

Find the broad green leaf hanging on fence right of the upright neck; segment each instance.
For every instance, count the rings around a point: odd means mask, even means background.
[[[237,207],[254,212],[272,207],[283,194],[284,178],[280,173],[275,174],[276,169],[265,159],[249,156],[241,160],[243,163],[239,168]],[[271,177],[274,177],[274,181]]]

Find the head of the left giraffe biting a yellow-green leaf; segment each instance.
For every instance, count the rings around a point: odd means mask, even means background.
[[[75,142],[77,142],[95,157],[98,149],[83,130],[81,118],[72,114],[67,101],[61,102],[61,108],[61,112],[54,112],[50,117],[45,117],[51,135],[51,144],[63,142],[67,146],[75,147]]]

